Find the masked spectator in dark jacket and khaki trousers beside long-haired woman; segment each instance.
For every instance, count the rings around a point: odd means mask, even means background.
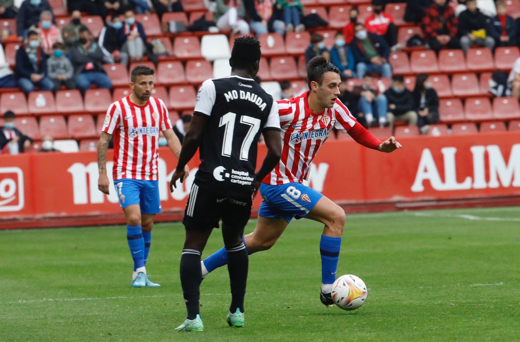
[[[395,121],[406,121],[409,126],[417,125],[418,115],[413,96],[405,87],[405,79],[402,75],[392,77],[392,87],[385,91],[385,96],[388,100],[386,119],[390,129],[394,130]]]

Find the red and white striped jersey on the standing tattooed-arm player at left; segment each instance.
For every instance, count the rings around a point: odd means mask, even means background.
[[[129,96],[110,105],[102,131],[114,136],[114,180],[157,180],[159,131],[172,128],[161,99],[150,97],[145,106]]]

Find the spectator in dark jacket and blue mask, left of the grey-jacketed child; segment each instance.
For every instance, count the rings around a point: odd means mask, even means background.
[[[38,32],[30,31],[27,43],[16,51],[15,77],[25,95],[40,87],[40,90],[53,90],[54,83],[47,76],[47,55],[40,46]]]

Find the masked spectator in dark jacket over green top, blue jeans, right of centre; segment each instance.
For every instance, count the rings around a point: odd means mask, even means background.
[[[366,73],[379,73],[382,77],[392,77],[392,67],[388,63],[390,47],[386,44],[382,36],[370,33],[365,25],[358,23],[354,30],[356,36],[350,49],[356,61],[356,72],[359,78],[363,78]]]

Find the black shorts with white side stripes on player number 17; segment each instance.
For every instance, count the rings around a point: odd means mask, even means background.
[[[214,193],[193,183],[184,211],[186,229],[219,228],[218,222],[241,229],[251,217],[253,201],[249,198],[235,198]]]

